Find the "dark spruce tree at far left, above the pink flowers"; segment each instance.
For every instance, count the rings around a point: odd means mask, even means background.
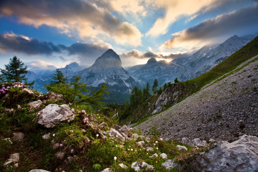
[[[12,59],[10,58],[9,64],[4,65],[5,69],[0,69],[3,79],[6,81],[14,81],[14,82],[27,82],[27,78],[25,77],[28,73],[27,66],[24,66],[24,63],[16,56]]]

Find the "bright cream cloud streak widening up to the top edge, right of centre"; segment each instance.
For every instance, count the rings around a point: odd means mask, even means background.
[[[146,33],[146,36],[158,36],[166,34],[168,27],[181,16],[194,16],[199,11],[207,11],[209,6],[216,7],[217,1],[219,0],[155,0],[151,3],[165,12],[164,17],[158,18],[153,26]],[[218,4],[219,5],[219,4]]]

